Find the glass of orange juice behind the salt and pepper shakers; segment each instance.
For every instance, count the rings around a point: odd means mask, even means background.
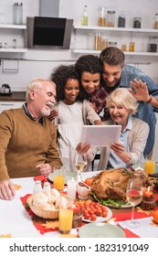
[[[64,189],[65,183],[65,169],[63,166],[56,166],[53,168],[53,186],[58,191]]]

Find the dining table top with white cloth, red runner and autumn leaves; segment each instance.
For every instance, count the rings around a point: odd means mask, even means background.
[[[94,176],[97,172],[84,173],[83,179]],[[12,200],[0,199],[0,238],[59,238],[58,219],[40,219],[30,210],[26,204],[26,198],[32,195],[35,180],[43,176],[13,178],[16,188],[16,196]],[[45,181],[47,180],[44,177]],[[65,186],[64,193],[67,193]],[[157,198],[158,199],[158,198]],[[153,212],[136,208],[135,218],[141,222],[140,228],[127,229],[126,222],[131,219],[132,208],[111,208],[112,216],[107,222],[120,225],[124,229],[126,237],[158,237],[158,225],[153,222]],[[87,225],[83,221],[83,225]],[[148,232],[144,232],[144,229]],[[78,237],[79,229],[71,229],[69,236]]]

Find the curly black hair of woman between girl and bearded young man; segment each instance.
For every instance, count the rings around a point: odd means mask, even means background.
[[[100,65],[100,59],[94,55],[83,55],[77,59],[75,63],[75,69],[79,73],[79,80],[81,79],[82,72],[90,72],[91,74],[96,74],[102,72],[102,67]]]

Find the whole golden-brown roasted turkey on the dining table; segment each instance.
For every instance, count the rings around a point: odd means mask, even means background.
[[[143,172],[132,172],[127,168],[110,169],[100,172],[94,176],[91,182],[91,191],[100,199],[118,199],[125,200],[126,187],[129,178],[137,174],[138,179],[147,183],[147,178]]]

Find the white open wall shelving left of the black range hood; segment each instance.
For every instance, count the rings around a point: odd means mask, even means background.
[[[3,53],[26,52],[26,25],[0,24],[0,33],[1,38],[5,38],[0,41],[0,57]],[[14,48],[13,39],[16,39],[16,48]]]

